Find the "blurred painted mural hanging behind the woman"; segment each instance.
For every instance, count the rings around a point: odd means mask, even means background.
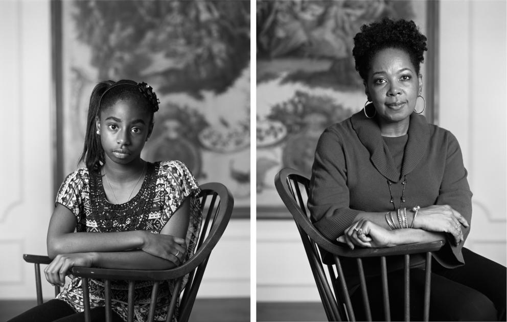
[[[352,56],[362,24],[413,19],[425,33],[426,11],[418,1],[257,2],[258,217],[286,216],[276,172],[292,167],[310,177],[320,134],[363,108]]]

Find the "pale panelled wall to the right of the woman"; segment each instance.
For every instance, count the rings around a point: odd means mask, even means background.
[[[440,123],[458,139],[474,194],[465,246],[505,265],[505,2],[440,7]]]

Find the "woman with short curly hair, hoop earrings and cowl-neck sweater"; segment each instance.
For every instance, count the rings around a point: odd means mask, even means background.
[[[354,44],[367,102],[320,136],[308,202],[315,226],[351,249],[447,239],[433,254],[430,319],[505,321],[505,267],[463,247],[472,193],[459,144],[419,115],[426,37],[413,21],[385,18],[362,26]],[[424,259],[412,257],[410,312],[420,320]],[[391,315],[402,319],[400,260],[389,259],[388,267]],[[378,299],[374,318],[382,319],[380,279],[368,276],[367,284]]]

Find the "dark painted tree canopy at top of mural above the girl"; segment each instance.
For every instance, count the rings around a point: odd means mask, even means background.
[[[249,12],[248,1],[76,1],[73,18],[99,79],[150,79],[198,97],[223,92],[248,65]]]

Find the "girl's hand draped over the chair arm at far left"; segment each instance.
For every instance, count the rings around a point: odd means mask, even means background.
[[[95,253],[73,253],[57,255],[55,259],[44,269],[44,275],[48,282],[53,285],[65,285],[65,276],[70,274],[74,266],[93,266]]]

